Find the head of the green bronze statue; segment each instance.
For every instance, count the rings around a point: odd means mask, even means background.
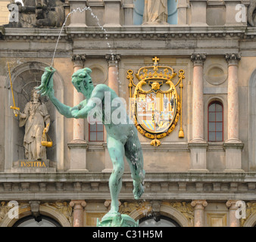
[[[84,68],[77,70],[72,75],[72,83],[73,86],[76,88],[77,92],[82,92],[85,95],[85,92],[92,91],[94,86],[92,83],[92,78],[90,74],[92,70],[89,68]]]

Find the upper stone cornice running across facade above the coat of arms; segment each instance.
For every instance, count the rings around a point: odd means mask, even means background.
[[[100,27],[65,27],[61,33],[61,40],[89,38],[89,39],[173,39],[173,38],[253,38],[256,29],[246,26],[121,26],[106,27],[106,32]],[[58,39],[61,29],[32,29],[5,28],[5,39]]]

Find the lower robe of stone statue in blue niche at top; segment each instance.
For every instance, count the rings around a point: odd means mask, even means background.
[[[142,24],[167,24],[167,19],[167,0],[145,0]]]

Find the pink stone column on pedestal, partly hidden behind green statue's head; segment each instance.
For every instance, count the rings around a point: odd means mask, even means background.
[[[86,54],[73,54],[73,72],[83,69],[86,61]],[[73,106],[80,104],[85,97],[82,93],[73,88]],[[86,149],[88,144],[85,141],[85,119],[73,119],[73,140],[70,141],[70,171],[88,171],[86,169]]]

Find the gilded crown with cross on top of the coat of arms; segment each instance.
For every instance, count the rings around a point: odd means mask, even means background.
[[[160,60],[158,57],[153,57],[154,64],[148,67],[141,67],[135,76],[139,81],[144,80],[147,82],[152,79],[165,79],[166,81],[173,79],[176,76],[172,67],[161,66],[158,64]]]

